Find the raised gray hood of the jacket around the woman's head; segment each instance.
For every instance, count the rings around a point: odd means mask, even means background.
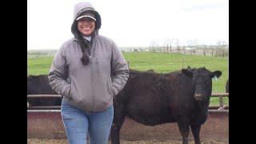
[[[76,19],[84,14],[86,11],[93,11],[95,13],[95,18],[96,18],[96,27],[94,30],[95,34],[98,34],[98,30],[102,26],[102,19],[100,14],[98,14],[98,11],[94,9],[94,6],[92,6],[89,2],[79,2],[74,6],[74,18],[73,18],[73,23],[71,26],[71,32],[74,34],[74,37],[77,38],[78,34],[80,32],[78,31],[78,22]]]

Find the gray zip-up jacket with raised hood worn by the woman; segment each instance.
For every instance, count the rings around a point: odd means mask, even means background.
[[[90,63],[83,65],[75,19],[86,10],[95,12],[96,28],[89,45]],[[106,110],[129,77],[121,51],[110,38],[98,35],[100,27],[101,17],[94,7],[78,3],[71,26],[74,38],[64,42],[55,54],[48,76],[50,86],[63,96],[63,101],[86,111]]]

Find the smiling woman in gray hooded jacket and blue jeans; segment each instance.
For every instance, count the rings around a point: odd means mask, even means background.
[[[74,6],[71,32],[50,68],[50,86],[63,96],[61,114],[70,144],[108,142],[114,118],[113,97],[129,70],[115,43],[98,35],[100,14],[88,2]]]

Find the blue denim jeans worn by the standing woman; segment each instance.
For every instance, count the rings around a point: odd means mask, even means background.
[[[100,112],[88,112],[62,101],[62,121],[70,144],[107,144],[114,118],[113,105]]]

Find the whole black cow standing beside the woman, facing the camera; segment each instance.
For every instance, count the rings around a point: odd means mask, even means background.
[[[199,134],[208,115],[211,78],[221,74],[219,70],[211,72],[203,67],[129,77],[126,86],[114,97],[111,142],[120,143],[119,132],[128,116],[147,126],[178,122],[183,144],[188,143],[190,127],[195,143],[201,143]]]

